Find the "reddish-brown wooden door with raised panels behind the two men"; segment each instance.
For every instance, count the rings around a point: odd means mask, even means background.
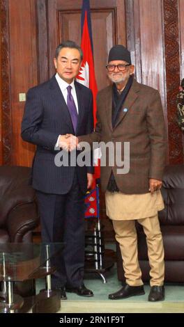
[[[56,45],[63,40],[73,40],[78,45],[81,43],[82,0],[48,0],[47,4],[43,0],[39,2],[42,6],[38,6],[38,26],[45,33],[43,35],[39,31],[41,82],[52,77],[55,72],[53,58]],[[125,3],[124,0],[91,0],[90,4],[95,77],[100,90],[108,84],[105,65],[109,49],[117,43],[126,44]],[[44,28],[45,24],[47,29]]]

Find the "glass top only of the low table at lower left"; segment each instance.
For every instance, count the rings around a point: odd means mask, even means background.
[[[36,274],[47,269],[49,273],[63,247],[63,243],[0,244],[0,280],[22,281],[38,278]]]

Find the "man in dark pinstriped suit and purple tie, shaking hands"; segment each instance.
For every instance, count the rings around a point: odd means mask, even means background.
[[[26,97],[22,138],[37,145],[32,184],[40,209],[43,242],[65,242],[52,288],[93,296],[84,277],[84,194],[93,182],[93,167],[59,166],[56,147],[67,150],[65,134],[93,131],[93,98],[89,88],[75,81],[82,63],[82,49],[66,41],[56,47],[56,74],[31,88]],[[64,141],[64,142],[63,142]]]

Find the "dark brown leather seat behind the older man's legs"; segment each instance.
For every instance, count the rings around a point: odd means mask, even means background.
[[[165,281],[184,282],[184,165],[167,166],[162,184],[165,208],[159,212],[160,228],[164,241]],[[139,264],[142,279],[148,281],[146,238],[137,224]],[[121,252],[117,244],[118,279],[124,281]]]

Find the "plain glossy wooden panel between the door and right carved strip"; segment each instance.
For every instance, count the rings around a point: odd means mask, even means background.
[[[125,8],[127,44],[136,79],[159,90],[167,125],[162,1],[126,0]]]

